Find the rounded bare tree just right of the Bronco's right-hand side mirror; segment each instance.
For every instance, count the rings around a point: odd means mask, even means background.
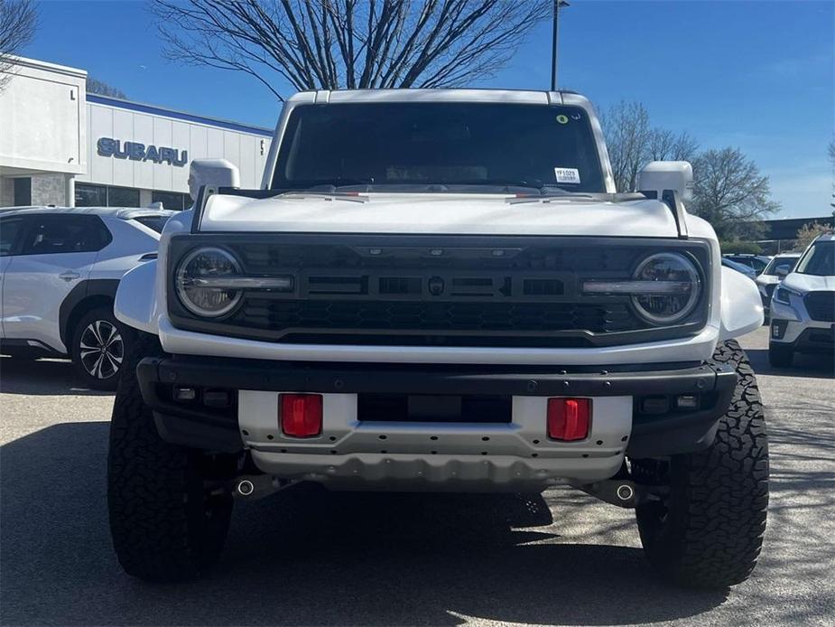
[[[738,148],[707,150],[693,163],[688,211],[708,220],[719,239],[756,237],[763,218],[780,208],[768,177]]]

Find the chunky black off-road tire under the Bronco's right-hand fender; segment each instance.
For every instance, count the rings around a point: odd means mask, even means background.
[[[669,462],[634,462],[644,476],[654,468],[661,480],[661,489],[639,486],[639,495],[659,499],[636,508],[646,556],[665,579],[694,588],[747,579],[768,507],[768,440],[754,371],[735,341],[720,343],[713,359],[733,365],[739,377],[714,444]]]

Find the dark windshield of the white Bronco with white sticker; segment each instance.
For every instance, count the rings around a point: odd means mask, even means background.
[[[293,109],[273,189],[356,184],[414,191],[442,185],[461,192],[507,186],[606,192],[582,108],[444,102]]]

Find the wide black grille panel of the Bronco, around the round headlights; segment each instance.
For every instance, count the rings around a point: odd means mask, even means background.
[[[293,276],[293,290],[247,292],[219,320],[190,314],[173,279],[202,246],[226,248],[247,276]],[[682,323],[654,326],[627,295],[580,292],[583,280],[631,277],[662,250],[700,268],[700,302]],[[200,233],[174,236],[169,260],[174,326],[268,342],[609,346],[695,334],[710,301],[710,248],[700,240]]]

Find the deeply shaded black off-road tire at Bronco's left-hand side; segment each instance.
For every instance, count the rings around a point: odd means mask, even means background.
[[[190,579],[218,560],[227,537],[232,497],[210,493],[204,480],[230,458],[162,440],[136,379],[139,361],[162,350],[153,335],[132,332],[131,340],[110,423],[110,533],[128,575],[156,582]]]

